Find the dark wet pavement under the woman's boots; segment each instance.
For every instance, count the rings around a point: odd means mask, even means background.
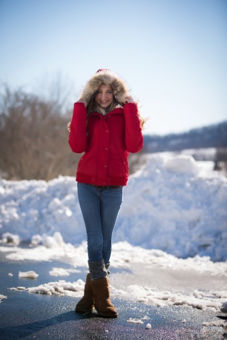
[[[0,259],[1,260],[1,259]],[[62,279],[49,278],[52,267],[64,267],[58,262],[0,261],[0,294],[7,296],[0,303],[0,340],[226,340],[223,327],[202,326],[216,321],[214,311],[192,307],[156,307],[126,299],[112,298],[118,318],[107,319],[94,313],[76,313],[79,298],[33,294],[8,290],[17,286],[37,286]],[[69,267],[69,265],[65,266]],[[34,270],[38,278],[22,279],[19,271]],[[116,270],[117,271],[117,270]],[[9,276],[11,272],[13,276]],[[114,272],[113,272],[114,275]],[[74,273],[73,280],[85,280],[86,270]],[[68,280],[68,278],[63,278]],[[69,281],[72,281],[72,277]],[[128,320],[141,320],[132,323]],[[151,329],[146,329],[150,323]]]

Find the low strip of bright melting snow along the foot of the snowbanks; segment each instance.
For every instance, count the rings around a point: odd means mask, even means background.
[[[59,233],[55,233],[51,241],[61,238]],[[87,249],[86,242],[82,242],[79,246],[62,241],[52,248],[44,245],[37,245],[34,248],[20,248],[0,246],[0,252],[5,253],[5,257],[14,261],[33,260],[33,261],[51,261],[59,260],[68,263],[74,267],[87,267]],[[158,249],[145,249],[140,246],[132,246],[128,242],[117,242],[113,244],[113,252],[111,257],[111,267],[114,268],[130,268],[133,263],[141,263],[143,265],[158,266],[162,269],[175,269],[180,271],[193,270],[196,272],[206,272],[212,275],[227,276],[227,262],[213,262],[209,257],[200,257],[196,255],[193,258],[181,259],[174,255]],[[76,269],[56,269],[53,268],[51,275],[68,276],[70,272],[76,272]]]

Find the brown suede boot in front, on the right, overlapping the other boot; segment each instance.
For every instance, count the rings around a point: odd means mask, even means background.
[[[91,287],[95,296],[95,309],[98,314],[105,317],[117,317],[116,309],[110,300],[108,276],[98,280],[91,280]]]

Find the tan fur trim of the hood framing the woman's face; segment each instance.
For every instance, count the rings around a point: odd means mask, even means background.
[[[88,104],[92,95],[96,93],[103,83],[112,86],[114,97],[119,103],[123,103],[125,98],[130,96],[129,89],[118,75],[109,69],[100,69],[85,84],[79,100],[86,101]]]

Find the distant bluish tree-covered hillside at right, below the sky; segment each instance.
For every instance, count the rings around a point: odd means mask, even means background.
[[[227,147],[227,121],[181,134],[145,135],[143,151],[163,152],[210,147]]]

